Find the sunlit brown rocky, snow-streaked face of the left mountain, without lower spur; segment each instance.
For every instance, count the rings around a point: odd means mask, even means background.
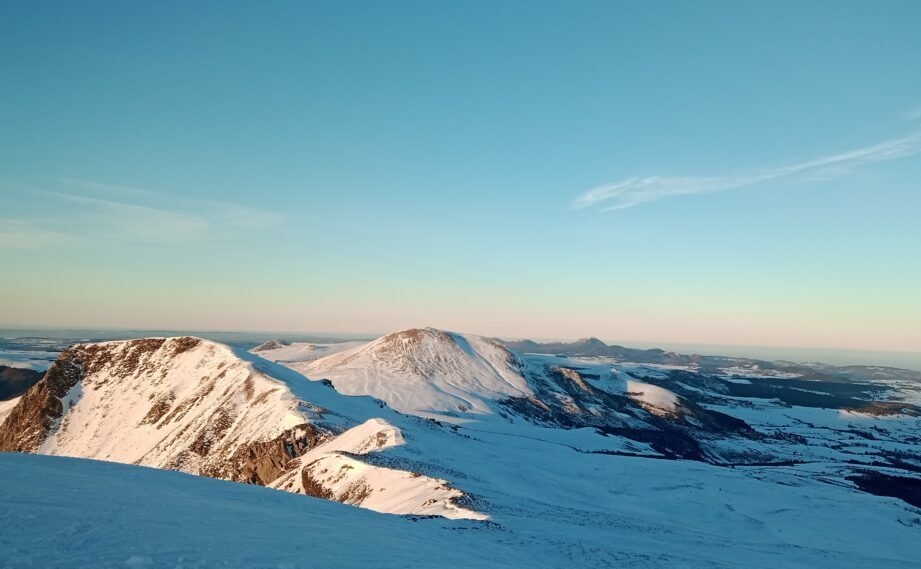
[[[77,345],[9,412],[0,450],[265,485],[330,434],[296,407],[279,384],[198,338]]]

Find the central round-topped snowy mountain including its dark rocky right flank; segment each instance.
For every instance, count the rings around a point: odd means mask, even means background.
[[[596,341],[582,344],[590,348]],[[260,352],[273,357],[274,350]],[[718,437],[755,436],[744,421],[630,378],[596,382],[567,364],[515,354],[500,342],[432,328],[410,329],[320,358],[280,360],[341,393],[369,395],[403,413],[450,423],[525,422],[591,427],[671,457],[718,459]],[[604,372],[606,375],[608,371]],[[711,445],[712,446],[712,445]]]

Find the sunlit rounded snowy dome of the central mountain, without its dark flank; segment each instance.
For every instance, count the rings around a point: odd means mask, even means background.
[[[481,336],[404,330],[305,365],[347,395],[371,395],[400,412],[447,421],[490,414],[493,402],[533,395],[515,357]]]

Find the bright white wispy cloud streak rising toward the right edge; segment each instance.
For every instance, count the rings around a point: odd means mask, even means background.
[[[707,194],[753,186],[770,180],[796,178],[827,180],[874,162],[886,162],[921,152],[921,132],[821,156],[786,166],[778,166],[735,176],[649,176],[634,177],[592,188],[576,198],[573,207],[600,207],[602,211],[626,209],[646,202],[681,195]]]

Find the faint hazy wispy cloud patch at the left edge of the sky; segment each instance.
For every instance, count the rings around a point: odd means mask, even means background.
[[[285,221],[281,214],[232,202],[87,180],[60,178],[54,189],[14,187],[40,213],[0,220],[0,249],[52,247],[73,240],[209,242]]]

